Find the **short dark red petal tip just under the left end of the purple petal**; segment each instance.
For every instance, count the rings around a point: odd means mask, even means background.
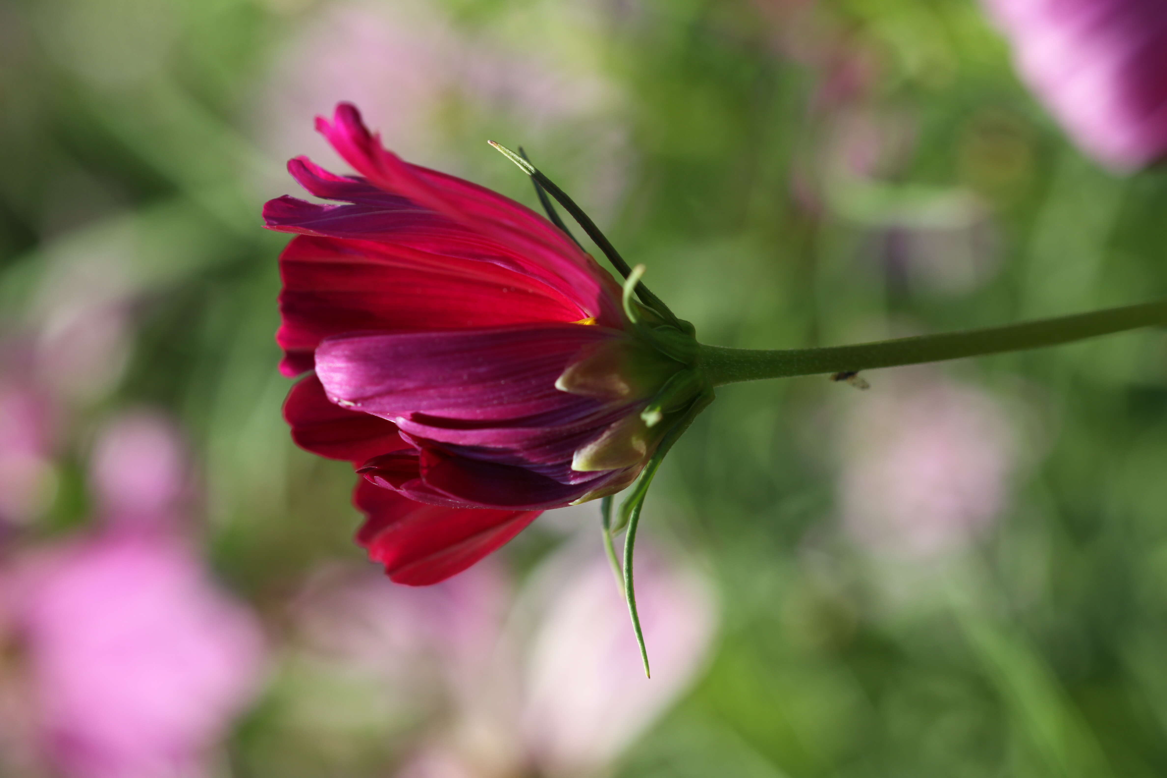
[[[308,376],[288,392],[284,419],[292,426],[292,440],[300,448],[331,460],[364,462],[408,448],[393,422],[329,402],[315,376]]]

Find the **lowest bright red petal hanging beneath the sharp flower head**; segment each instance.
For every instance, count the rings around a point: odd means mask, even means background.
[[[425,505],[364,479],[352,499],[366,516],[357,542],[385,566],[390,580],[415,587],[461,573],[540,513]]]

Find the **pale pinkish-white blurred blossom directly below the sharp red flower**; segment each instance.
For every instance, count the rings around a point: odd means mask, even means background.
[[[547,602],[525,663],[523,737],[546,776],[608,768],[689,687],[717,630],[710,583],[694,569],[638,549],[636,600],[652,678],[612,569],[593,556]],[[538,581],[546,583],[546,579]]]

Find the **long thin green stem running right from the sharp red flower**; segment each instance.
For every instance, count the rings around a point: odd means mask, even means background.
[[[700,362],[713,385],[721,386],[763,378],[873,370],[1023,351],[1154,325],[1167,325],[1167,300],[1023,324],[825,349],[763,351],[701,345]]]

